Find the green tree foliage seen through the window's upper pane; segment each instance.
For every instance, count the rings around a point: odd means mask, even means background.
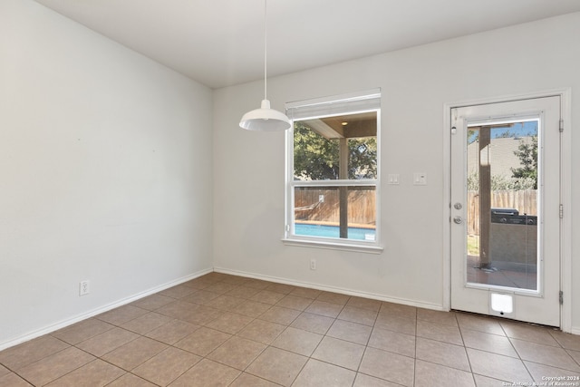
[[[295,122],[295,179],[339,179],[339,150],[339,140],[327,140],[302,122]],[[348,178],[375,179],[376,138],[349,139],[348,150]]]

